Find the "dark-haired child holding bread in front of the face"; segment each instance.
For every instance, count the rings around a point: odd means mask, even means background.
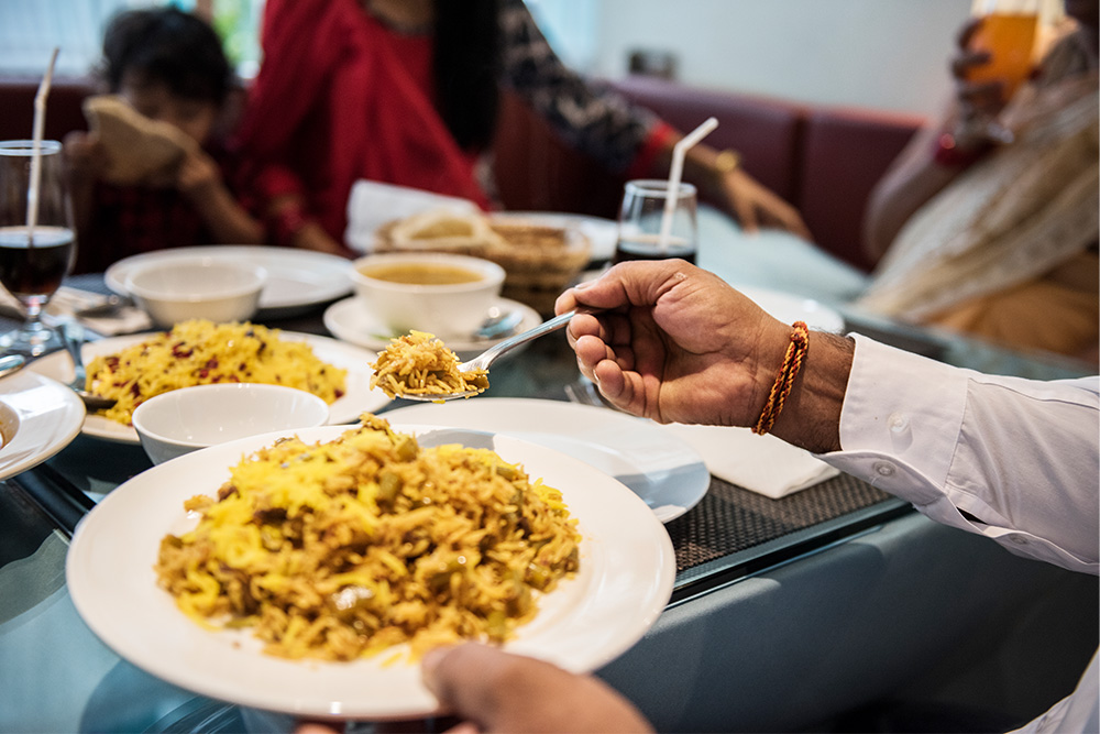
[[[112,94],[197,144],[157,177],[117,184],[105,180],[110,154],[94,132],[66,136],[76,272],[151,250],[263,242],[262,224],[230,189],[233,164],[220,133],[233,76],[213,29],[175,9],[123,12],[105,34],[103,65]]]

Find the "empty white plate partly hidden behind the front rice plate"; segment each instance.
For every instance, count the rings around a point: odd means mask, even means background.
[[[647,418],[560,401],[477,397],[382,414],[394,426],[430,424],[507,434],[550,447],[610,474],[662,523],[703,499],[711,473],[685,441]]]

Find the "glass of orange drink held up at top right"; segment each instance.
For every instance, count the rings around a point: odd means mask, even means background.
[[[981,21],[970,36],[971,51],[989,54],[988,64],[967,74],[970,81],[1002,81],[1004,99],[1012,99],[1035,64],[1043,0],[974,0],[972,13]]]

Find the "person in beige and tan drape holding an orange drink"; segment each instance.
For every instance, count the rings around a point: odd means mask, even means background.
[[[1068,18],[1030,66],[1042,7],[1027,15],[1024,0],[1011,2],[964,28],[947,113],[873,191],[865,244],[882,260],[858,305],[1094,362],[1098,3],[1066,0]],[[1025,48],[991,45],[994,25]],[[1010,51],[1015,64],[997,62]]]

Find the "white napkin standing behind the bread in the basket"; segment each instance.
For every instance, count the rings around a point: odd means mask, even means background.
[[[344,241],[358,252],[374,249],[374,232],[388,221],[405,219],[430,209],[450,209],[458,213],[479,211],[468,199],[432,194],[418,188],[358,180],[348,197],[348,229]]]

